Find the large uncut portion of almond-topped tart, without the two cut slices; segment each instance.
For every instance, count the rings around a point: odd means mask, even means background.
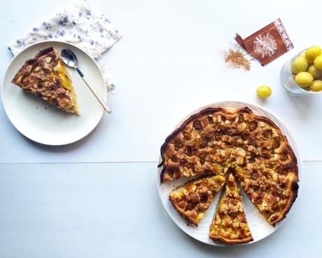
[[[248,107],[209,107],[190,116],[162,144],[161,158],[161,183],[232,172],[273,226],[297,197],[293,149],[274,122]]]

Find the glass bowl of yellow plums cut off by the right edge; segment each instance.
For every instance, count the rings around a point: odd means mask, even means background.
[[[311,46],[283,64],[281,83],[296,94],[322,92],[322,52]]]

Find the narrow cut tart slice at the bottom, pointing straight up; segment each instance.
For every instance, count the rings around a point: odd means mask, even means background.
[[[221,240],[226,244],[248,243],[253,240],[232,174],[228,176],[225,191],[218,202],[216,214],[210,225],[209,238]]]

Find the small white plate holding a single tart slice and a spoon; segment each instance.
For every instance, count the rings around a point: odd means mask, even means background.
[[[73,68],[67,68],[76,91],[79,116],[61,111],[40,97],[26,93],[25,90],[11,83],[26,60],[33,58],[39,50],[49,46],[54,46],[58,53],[63,48],[73,50],[78,59],[78,67],[103,100],[106,100],[104,78],[92,57],[69,43],[43,41],[22,50],[8,65],[2,87],[3,107],[11,123],[25,137],[41,144],[70,144],[88,135],[99,123],[104,112],[101,104],[77,72]]]

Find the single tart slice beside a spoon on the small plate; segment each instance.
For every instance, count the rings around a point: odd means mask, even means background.
[[[66,112],[78,114],[75,90],[62,58],[52,46],[20,68],[12,83]]]

